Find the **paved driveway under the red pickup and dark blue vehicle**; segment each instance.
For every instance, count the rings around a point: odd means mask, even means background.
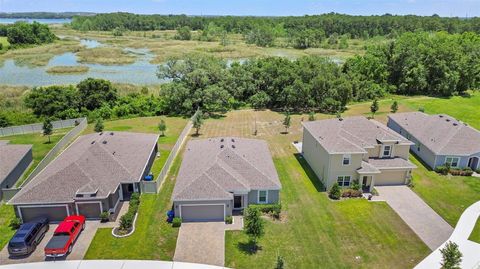
[[[45,237],[37,246],[37,249],[26,257],[21,258],[10,258],[8,255],[7,246],[5,246],[0,252],[0,264],[16,264],[16,263],[31,263],[31,262],[43,262],[46,261],[43,249],[47,245],[50,238],[52,238],[53,232],[57,228],[57,224],[50,224],[50,229],[45,234]],[[93,237],[99,226],[98,221],[87,221],[85,225],[85,230],[82,231],[78,237],[75,245],[73,246],[72,253],[70,253],[66,258],[62,260],[81,260],[85,256],[90,243],[92,242]],[[49,259],[47,259],[48,261]],[[60,259],[57,259],[60,260]]]

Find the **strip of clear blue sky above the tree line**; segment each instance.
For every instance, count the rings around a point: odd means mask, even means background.
[[[0,12],[90,11],[189,15],[417,14],[480,16],[480,0],[0,0]]]

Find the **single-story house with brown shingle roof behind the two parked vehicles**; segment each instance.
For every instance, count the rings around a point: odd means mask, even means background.
[[[157,154],[158,135],[103,132],[78,137],[10,201],[24,222],[81,214],[113,214],[121,200],[140,191]]]

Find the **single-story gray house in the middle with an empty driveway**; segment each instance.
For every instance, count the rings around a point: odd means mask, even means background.
[[[193,140],[173,190],[175,216],[183,221],[223,221],[249,204],[277,203],[280,189],[265,141]]]

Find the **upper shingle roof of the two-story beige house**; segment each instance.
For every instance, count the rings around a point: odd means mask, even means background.
[[[367,153],[379,141],[412,144],[385,125],[365,117],[304,122],[303,126],[328,153]]]

